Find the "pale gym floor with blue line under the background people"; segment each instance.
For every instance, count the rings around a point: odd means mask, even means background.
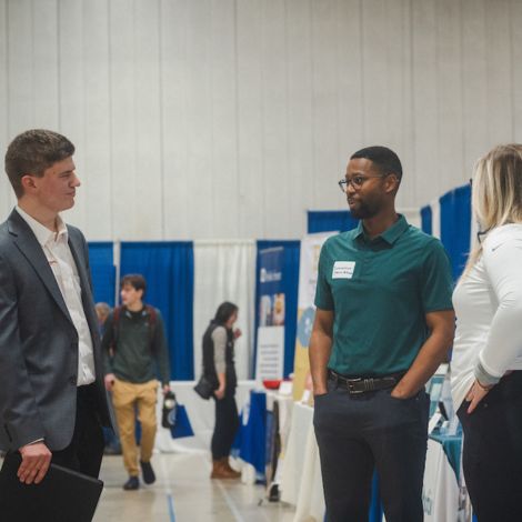
[[[94,522],[291,522],[293,510],[264,499],[264,486],[210,480],[210,456],[154,454],[157,482],[123,491],[121,456],[104,456]]]

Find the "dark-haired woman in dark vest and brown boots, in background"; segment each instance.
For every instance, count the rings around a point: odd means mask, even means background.
[[[229,463],[230,450],[239,429],[234,340],[241,335],[241,330],[233,329],[237,320],[238,307],[230,302],[221,303],[203,335],[203,374],[215,388],[211,479],[238,479],[241,475]]]

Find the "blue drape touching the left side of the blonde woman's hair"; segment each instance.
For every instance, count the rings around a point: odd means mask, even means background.
[[[451,259],[453,279],[460,278],[470,253],[471,187],[459,187],[440,199],[441,241]]]

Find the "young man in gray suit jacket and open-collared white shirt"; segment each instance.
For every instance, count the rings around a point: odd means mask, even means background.
[[[98,476],[110,425],[88,248],[59,214],[80,185],[73,153],[30,130],[6,154],[18,205],[0,225],[0,450],[20,452],[26,484],[51,460]]]

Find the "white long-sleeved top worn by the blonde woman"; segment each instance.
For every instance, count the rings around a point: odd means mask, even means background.
[[[456,331],[451,361],[455,411],[475,379],[522,370],[522,224],[488,234],[482,255],[453,292]]]

